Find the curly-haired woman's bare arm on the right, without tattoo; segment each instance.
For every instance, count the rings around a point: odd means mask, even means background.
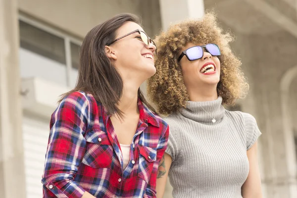
[[[257,159],[257,142],[247,150],[249,173],[242,186],[243,198],[262,198],[261,178]]]

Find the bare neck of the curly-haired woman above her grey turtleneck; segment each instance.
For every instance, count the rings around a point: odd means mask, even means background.
[[[218,99],[216,85],[196,86],[187,90],[190,101],[212,101]]]

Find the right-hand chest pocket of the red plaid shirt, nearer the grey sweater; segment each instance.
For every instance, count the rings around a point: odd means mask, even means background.
[[[153,164],[157,158],[157,151],[154,148],[138,146],[139,149],[139,167],[138,177],[149,182],[150,175],[153,173]],[[157,174],[156,172],[154,174]]]

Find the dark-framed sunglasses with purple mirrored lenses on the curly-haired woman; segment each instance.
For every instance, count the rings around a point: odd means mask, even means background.
[[[213,56],[221,55],[220,48],[216,44],[206,44],[204,46],[194,46],[186,49],[178,57],[177,61],[180,61],[184,55],[187,56],[188,60],[193,61],[203,57],[203,49],[206,49],[208,53]]]

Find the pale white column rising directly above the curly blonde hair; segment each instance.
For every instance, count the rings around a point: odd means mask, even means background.
[[[159,0],[162,29],[170,23],[187,18],[201,18],[204,15],[204,0]]]

